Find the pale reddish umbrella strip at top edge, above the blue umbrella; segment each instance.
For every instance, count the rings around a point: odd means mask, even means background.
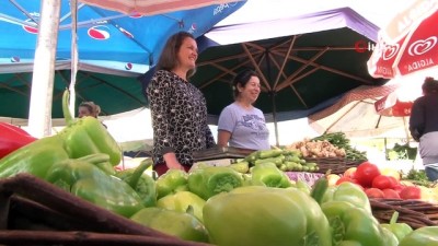
[[[180,10],[197,9],[201,7],[222,4],[218,7],[228,8],[227,4],[233,4],[242,0],[79,0],[80,2],[100,7],[107,10],[118,11],[126,14],[138,13],[141,15],[153,15],[169,13]]]

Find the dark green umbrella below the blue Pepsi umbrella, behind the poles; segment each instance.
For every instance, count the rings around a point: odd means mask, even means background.
[[[70,62],[67,61],[64,65],[58,62],[56,66],[51,102],[53,118],[62,118],[62,93],[70,84]],[[84,66],[82,69],[87,68]],[[0,116],[27,119],[32,73],[32,70],[0,73]],[[141,85],[137,80],[138,75],[131,72],[108,74],[78,71],[76,108],[84,101],[93,101],[101,106],[101,116],[107,116],[145,107],[146,102]]]

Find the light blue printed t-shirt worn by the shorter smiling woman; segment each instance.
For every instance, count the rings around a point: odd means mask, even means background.
[[[249,150],[269,150],[269,130],[262,110],[240,107],[237,103],[228,105],[220,113],[218,130],[231,132],[230,147]]]

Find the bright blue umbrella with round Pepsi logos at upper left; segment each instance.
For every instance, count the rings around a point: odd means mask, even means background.
[[[69,0],[61,0],[57,60],[71,57],[69,3]],[[244,1],[239,1],[143,16],[80,3],[77,15],[79,59],[102,67],[112,61],[114,69],[145,72],[157,62],[170,35],[186,31],[198,37],[243,4]],[[33,60],[39,13],[39,0],[0,1],[0,62]]]

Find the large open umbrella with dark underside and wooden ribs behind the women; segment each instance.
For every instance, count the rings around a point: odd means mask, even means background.
[[[247,68],[261,77],[255,106],[268,121],[302,118],[307,115],[293,112],[310,114],[309,109],[351,89],[387,81],[371,78],[366,68],[370,52],[365,45],[377,38],[377,32],[349,8],[214,27],[205,36],[229,43],[199,55],[192,81],[207,98],[212,124],[233,102],[232,78]],[[249,40],[254,34],[264,38]]]

